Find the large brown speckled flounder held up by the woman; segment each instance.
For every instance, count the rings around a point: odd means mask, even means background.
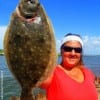
[[[4,37],[4,52],[21,85],[21,100],[34,100],[32,89],[56,64],[54,31],[38,0],[20,0]]]

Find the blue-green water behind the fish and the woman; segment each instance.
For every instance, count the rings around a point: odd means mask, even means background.
[[[90,68],[96,76],[100,77],[100,56],[85,56],[83,59],[85,65]],[[60,60],[61,58],[59,57],[58,63],[60,63]],[[20,92],[20,85],[9,71],[5,57],[0,56],[0,100],[10,100],[11,96],[19,96]],[[39,92],[45,91],[36,88],[34,94]]]

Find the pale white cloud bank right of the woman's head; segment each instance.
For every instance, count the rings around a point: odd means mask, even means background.
[[[84,36],[84,53],[100,55],[100,36]]]

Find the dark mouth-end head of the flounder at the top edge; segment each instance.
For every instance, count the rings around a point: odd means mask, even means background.
[[[39,6],[39,0],[20,0],[18,8],[23,17],[33,18],[36,16]]]

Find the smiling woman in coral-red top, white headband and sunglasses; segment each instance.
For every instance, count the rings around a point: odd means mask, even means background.
[[[94,74],[82,60],[83,41],[77,34],[67,34],[61,43],[62,61],[41,85],[47,100],[98,100]]]

